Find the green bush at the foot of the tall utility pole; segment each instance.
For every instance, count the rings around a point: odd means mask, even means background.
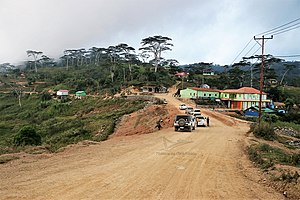
[[[255,137],[263,138],[265,140],[276,139],[274,127],[271,124],[265,122],[262,122],[260,126],[258,124],[251,125],[250,131],[253,132]]]

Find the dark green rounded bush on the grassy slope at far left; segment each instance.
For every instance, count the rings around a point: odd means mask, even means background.
[[[16,146],[40,145],[42,138],[32,126],[24,126],[14,137],[13,142]]]

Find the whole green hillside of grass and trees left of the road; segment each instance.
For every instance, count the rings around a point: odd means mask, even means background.
[[[126,99],[130,92],[121,92],[128,87],[168,88],[176,83],[178,62],[161,57],[172,50],[171,40],[147,37],[141,41],[140,53],[125,43],[66,49],[59,60],[28,50],[29,61],[22,67],[1,64],[0,154],[30,146],[55,152],[82,140],[107,139],[120,117],[147,104]],[[57,99],[56,91],[62,89],[72,95],[85,91],[88,96]]]

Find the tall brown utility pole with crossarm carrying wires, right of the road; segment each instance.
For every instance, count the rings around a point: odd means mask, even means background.
[[[258,115],[258,125],[260,126],[261,124],[261,116],[262,116],[262,113],[261,113],[261,107],[262,107],[262,90],[263,90],[263,82],[264,82],[264,46],[265,46],[265,40],[268,40],[268,39],[273,39],[273,35],[269,38],[266,38],[264,35],[261,37],[261,38],[256,38],[254,36],[254,40],[262,40],[261,42],[261,68],[260,68],[260,83],[259,83],[259,86],[260,86],[260,90],[259,90],[259,115]]]

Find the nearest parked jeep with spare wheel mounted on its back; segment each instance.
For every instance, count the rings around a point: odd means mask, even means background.
[[[192,132],[196,128],[196,118],[193,115],[180,114],[176,115],[174,120],[175,131],[187,130]]]

